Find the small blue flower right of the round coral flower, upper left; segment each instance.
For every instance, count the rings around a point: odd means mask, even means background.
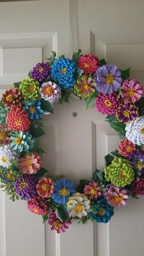
[[[43,116],[43,109],[41,109],[40,100],[27,101],[27,104],[23,109],[27,111],[27,115],[32,120],[37,120]]]

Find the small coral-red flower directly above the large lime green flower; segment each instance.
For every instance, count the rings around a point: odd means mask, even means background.
[[[132,142],[129,141],[128,139],[123,139],[122,141],[119,142],[118,153],[121,156],[130,156],[134,150],[135,145],[132,144]]]

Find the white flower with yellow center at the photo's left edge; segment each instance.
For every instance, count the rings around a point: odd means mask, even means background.
[[[9,167],[11,165],[10,160],[18,159],[18,153],[13,150],[10,145],[0,147],[0,166]]]

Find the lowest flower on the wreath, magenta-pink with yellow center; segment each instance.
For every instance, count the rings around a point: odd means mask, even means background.
[[[63,223],[60,221],[59,218],[57,218],[56,212],[52,210],[49,213],[49,218],[48,218],[48,224],[51,225],[51,230],[56,230],[56,232],[59,234],[61,231],[66,232],[66,229],[68,229],[68,225],[71,224],[71,219]]]

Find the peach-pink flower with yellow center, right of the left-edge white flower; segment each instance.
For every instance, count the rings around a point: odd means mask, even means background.
[[[41,167],[41,157],[37,153],[20,158],[19,162],[23,174],[36,174]]]

